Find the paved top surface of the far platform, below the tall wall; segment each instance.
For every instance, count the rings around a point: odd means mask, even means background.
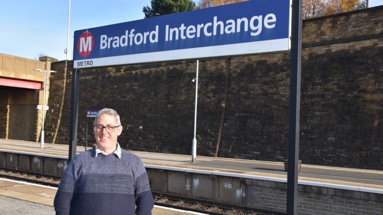
[[[85,151],[85,147],[81,146],[77,146],[76,149],[77,153]],[[87,150],[89,149],[91,148],[87,147]],[[41,149],[40,143],[38,142],[0,139],[0,151],[39,153],[47,156],[68,156],[69,146],[45,143],[44,148]],[[287,172],[284,170],[283,162],[248,161],[198,156],[195,162],[191,162],[191,156],[187,155],[136,151],[132,151],[132,153],[139,156],[144,164],[147,165],[172,166],[249,174],[263,177],[287,178]],[[308,165],[304,164],[303,161],[298,180],[372,188],[382,190],[383,193],[383,171]]]

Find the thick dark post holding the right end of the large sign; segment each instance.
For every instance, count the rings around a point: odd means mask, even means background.
[[[292,0],[286,214],[297,214],[302,0]]]

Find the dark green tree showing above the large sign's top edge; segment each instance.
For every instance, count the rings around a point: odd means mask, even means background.
[[[145,18],[195,9],[195,3],[192,0],[152,0],[151,4],[151,7],[144,6],[142,9]]]

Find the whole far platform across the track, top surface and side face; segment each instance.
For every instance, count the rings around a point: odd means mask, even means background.
[[[85,151],[82,146],[76,149],[77,153]],[[68,152],[68,145],[44,144],[41,149],[38,142],[0,139],[0,166],[35,168],[60,176]],[[191,162],[187,155],[131,152],[143,161],[152,191],[286,212],[287,172],[283,162],[198,156]],[[298,192],[300,214],[350,211],[383,215],[383,171],[317,166],[303,161]]]

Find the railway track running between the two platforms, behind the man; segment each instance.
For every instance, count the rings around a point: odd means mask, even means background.
[[[61,179],[57,176],[3,167],[0,167],[0,177],[51,187],[58,187]],[[281,213],[244,208],[221,202],[212,202],[204,199],[194,199],[169,193],[152,193],[155,205],[208,215],[285,215]]]

